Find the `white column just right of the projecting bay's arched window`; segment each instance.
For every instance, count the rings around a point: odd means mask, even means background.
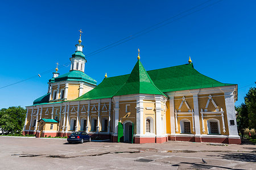
[[[156,118],[156,137],[162,137],[163,125],[161,122],[161,100],[160,96],[155,95],[155,118]]]

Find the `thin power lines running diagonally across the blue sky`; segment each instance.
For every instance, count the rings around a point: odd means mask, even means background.
[[[104,52],[104,51],[107,50],[107,49],[113,48],[114,46],[123,44],[123,43],[125,43],[125,42],[127,42],[127,41],[133,40],[133,39],[135,39],[135,38],[137,38],[137,37],[139,37],[139,36],[142,36],[142,35],[144,35],[144,34],[146,34],[146,33],[148,33],[148,32],[154,31],[155,29],[164,27],[164,26],[167,25],[167,24],[173,23],[173,22],[175,22],[176,20],[182,19],[182,18],[184,18],[184,17],[186,17],[186,16],[188,16],[188,15],[191,15],[191,14],[194,14],[194,13],[196,13],[196,12],[199,12],[199,11],[203,10],[204,8],[213,6],[213,5],[215,5],[216,3],[221,2],[221,1],[223,1],[223,0],[216,1],[216,2],[214,2],[214,3],[211,3],[211,4],[207,5],[207,6],[204,6],[204,7],[202,7],[202,8],[199,8],[198,10],[192,11],[192,10],[194,10],[194,9],[200,7],[200,6],[205,5],[206,3],[210,2],[210,1],[212,1],[212,0],[208,0],[208,1],[205,1],[205,2],[203,2],[203,3],[200,3],[200,4],[197,5],[197,6],[194,6],[194,7],[192,7],[192,8],[189,8],[188,10],[185,10],[185,11],[183,11],[183,12],[180,12],[179,14],[176,14],[176,15],[172,16],[171,18],[168,18],[168,19],[166,19],[166,20],[163,20],[162,22],[159,22],[159,23],[156,23],[156,24],[154,24],[154,25],[151,25],[150,27],[147,27],[147,28],[143,29],[142,31],[133,33],[133,35],[127,36],[127,37],[125,37],[125,38],[123,38],[123,39],[121,39],[121,40],[118,40],[118,41],[113,42],[112,44],[106,45],[106,46],[104,46],[104,47],[102,47],[102,48],[100,48],[100,49],[98,49],[98,50],[95,50],[95,51],[93,51],[93,52],[87,54],[87,55],[86,55],[86,58],[91,57],[91,56],[94,56],[95,54]],[[183,16],[181,16],[180,18],[174,19],[174,18],[176,18],[177,16],[180,16],[180,15],[182,15],[182,14],[185,14],[186,12],[189,12],[189,11],[192,11],[192,12],[190,12],[190,13],[188,13],[188,14],[186,14],[186,15],[183,15]],[[174,20],[171,20],[171,19],[174,19]],[[167,22],[168,20],[171,20],[171,21],[170,21],[170,22]],[[167,23],[166,23],[166,22],[167,22]],[[161,24],[162,24],[162,25],[161,25]],[[158,25],[159,25],[159,26],[158,26]],[[156,27],[156,26],[158,26],[158,27]],[[152,28],[152,29],[151,29],[151,28]],[[147,30],[148,30],[148,31],[147,31]],[[137,36],[135,36],[135,35],[137,35]],[[69,62],[68,62],[68,63],[69,63]],[[64,67],[64,66],[65,66],[66,64],[68,64],[68,63],[64,63],[64,64],[63,64],[62,66],[60,66],[59,68]],[[54,70],[54,69],[50,69],[50,70],[44,71],[43,73],[39,73],[39,74],[40,74],[40,75],[47,74],[47,73],[51,72],[52,70]],[[5,88],[5,87],[9,87],[9,86],[13,86],[14,84],[18,84],[18,83],[24,82],[24,81],[26,81],[26,80],[35,78],[35,77],[37,77],[37,76],[38,76],[38,75],[31,76],[30,78],[27,78],[27,79],[24,79],[24,80],[20,80],[19,82],[12,83],[12,84],[9,84],[9,85],[7,85],[7,86],[0,87],[0,89],[1,89],[1,88]]]

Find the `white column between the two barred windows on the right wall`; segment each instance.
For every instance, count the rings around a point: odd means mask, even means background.
[[[196,137],[201,137],[200,131],[200,116],[199,116],[199,104],[198,104],[198,93],[200,90],[192,90],[191,94],[193,95],[193,107],[195,113],[195,129],[196,129]]]

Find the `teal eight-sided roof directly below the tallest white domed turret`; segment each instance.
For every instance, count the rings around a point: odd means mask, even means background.
[[[69,71],[66,74],[57,76],[56,78],[49,79],[49,82],[60,82],[60,81],[64,81],[64,80],[83,81],[83,82],[90,83],[93,85],[97,84],[96,80],[94,80],[90,76],[86,75],[84,72],[78,71],[78,70]]]

